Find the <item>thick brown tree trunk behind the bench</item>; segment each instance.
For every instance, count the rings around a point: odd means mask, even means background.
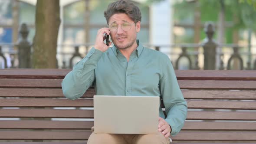
[[[32,68],[56,68],[59,9],[59,0],[37,0]]]

